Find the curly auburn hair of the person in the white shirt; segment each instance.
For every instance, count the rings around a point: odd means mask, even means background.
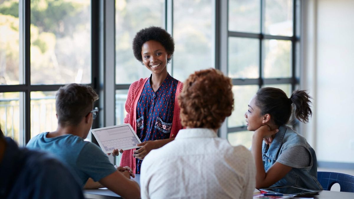
[[[178,97],[182,126],[218,129],[234,109],[231,79],[216,69],[189,75]]]

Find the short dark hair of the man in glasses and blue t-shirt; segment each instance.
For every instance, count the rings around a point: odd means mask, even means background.
[[[56,94],[55,108],[58,115],[58,124],[62,126],[76,126],[93,107],[98,99],[97,93],[87,85],[67,84],[61,87]]]

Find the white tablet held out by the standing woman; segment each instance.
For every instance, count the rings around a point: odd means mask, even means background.
[[[135,149],[141,143],[130,124],[108,126],[91,130],[104,153],[112,153],[114,149]]]

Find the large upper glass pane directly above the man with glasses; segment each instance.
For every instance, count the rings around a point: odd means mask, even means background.
[[[91,83],[90,0],[31,0],[31,84]]]

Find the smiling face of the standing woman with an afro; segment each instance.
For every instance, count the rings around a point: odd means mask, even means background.
[[[153,74],[167,74],[167,59],[171,56],[167,53],[164,46],[155,40],[149,40],[141,47],[143,63]]]

